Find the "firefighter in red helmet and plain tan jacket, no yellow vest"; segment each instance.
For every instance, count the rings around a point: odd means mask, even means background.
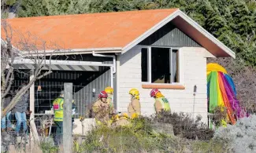
[[[113,110],[110,109],[109,104],[107,104],[108,94],[106,91],[102,91],[98,95],[98,100],[93,104],[92,111],[95,114],[95,120],[97,125],[111,125],[111,120],[109,116],[113,113]]]

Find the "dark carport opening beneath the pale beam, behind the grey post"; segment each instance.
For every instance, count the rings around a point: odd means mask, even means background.
[[[110,86],[110,68],[101,67],[100,71],[53,71],[50,75],[35,82],[35,115],[50,111],[53,101],[64,90],[65,82],[73,83],[73,100],[76,115],[91,117],[91,104],[97,100],[98,93]]]

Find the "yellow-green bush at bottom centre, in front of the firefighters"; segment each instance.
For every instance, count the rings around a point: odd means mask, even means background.
[[[183,149],[183,140],[157,133],[147,118],[136,118],[132,126],[93,129],[77,152],[182,152]]]

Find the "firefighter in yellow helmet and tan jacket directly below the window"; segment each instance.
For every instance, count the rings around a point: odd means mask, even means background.
[[[128,105],[128,115],[130,118],[136,118],[140,115],[139,90],[131,89],[131,103]]]

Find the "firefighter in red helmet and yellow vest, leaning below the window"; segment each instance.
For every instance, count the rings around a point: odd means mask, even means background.
[[[161,111],[171,111],[169,101],[161,94],[158,89],[152,89],[150,92],[150,97],[154,97],[154,110],[156,113]]]

